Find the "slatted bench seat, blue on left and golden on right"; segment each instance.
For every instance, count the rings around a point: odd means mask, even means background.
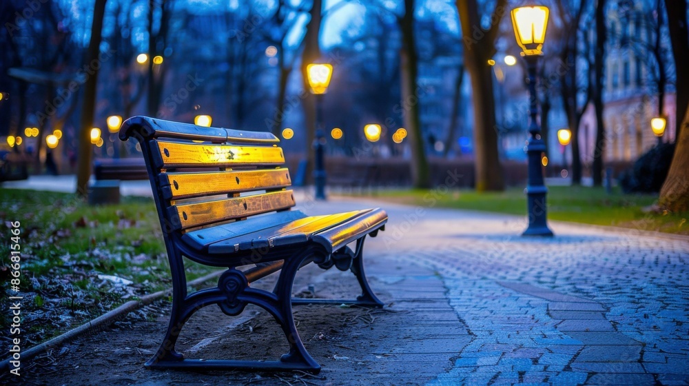
[[[216,225],[187,232],[182,240],[199,252],[232,254],[256,248],[319,243],[329,253],[384,226],[380,208],[325,216],[307,216],[298,210],[253,216],[242,223]],[[356,221],[353,221],[356,220]],[[356,226],[363,224],[364,226]]]

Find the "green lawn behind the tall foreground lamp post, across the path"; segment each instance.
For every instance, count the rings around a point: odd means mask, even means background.
[[[378,196],[386,201],[452,207],[457,209],[526,215],[523,188],[505,192],[477,193],[473,190],[382,190]],[[548,187],[548,219],[594,225],[613,225],[637,230],[689,234],[689,213],[651,214],[642,208],[652,205],[657,196],[622,194],[615,189],[607,194],[601,187]]]

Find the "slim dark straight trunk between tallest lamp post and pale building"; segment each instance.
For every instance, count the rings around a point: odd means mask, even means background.
[[[596,142],[593,152],[593,185],[603,184],[603,156],[605,152],[605,123],[603,121],[603,71],[605,67],[606,41],[606,0],[598,0],[596,5],[596,51],[594,61],[595,94],[593,105],[596,110]]]

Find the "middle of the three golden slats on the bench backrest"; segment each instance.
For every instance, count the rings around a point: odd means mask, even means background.
[[[163,179],[169,183],[170,196],[166,199],[268,190],[291,184],[289,170],[285,167],[238,172],[163,173]]]

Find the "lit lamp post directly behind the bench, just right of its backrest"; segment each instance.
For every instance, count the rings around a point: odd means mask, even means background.
[[[328,90],[333,66],[329,64],[311,63],[306,68],[311,94],[316,95],[316,139],[313,140],[314,165],[313,180],[316,183],[316,199],[325,200],[325,134],[322,127],[322,99]]]

